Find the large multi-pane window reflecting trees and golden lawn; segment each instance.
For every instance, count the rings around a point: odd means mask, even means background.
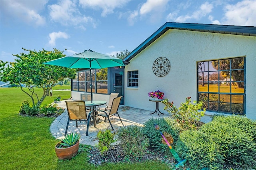
[[[198,62],[198,100],[208,111],[244,115],[245,57]]]

